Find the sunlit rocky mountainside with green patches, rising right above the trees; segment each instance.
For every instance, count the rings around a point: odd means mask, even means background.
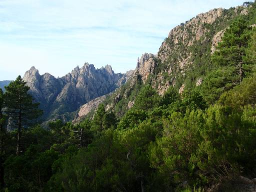
[[[203,89],[200,85],[204,78],[215,70],[211,55],[225,29],[241,16],[254,26],[253,10],[251,3],[229,9],[215,8],[171,29],[158,52],[142,54],[130,79],[102,100],[106,109],[113,110],[121,117],[132,107],[136,95],[145,84],[150,84],[159,95],[164,95],[170,87],[179,93],[197,86]],[[74,121],[87,114],[83,113],[87,111],[86,106],[80,108]]]

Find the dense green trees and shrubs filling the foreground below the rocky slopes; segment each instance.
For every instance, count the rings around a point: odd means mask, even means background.
[[[201,86],[182,94],[170,87],[159,96],[150,84],[138,84],[133,107],[117,110],[120,119],[101,104],[93,119],[78,124],[30,125],[40,111],[19,76],[0,91],[2,191],[202,191],[216,183],[216,191],[235,191],[229,181],[256,177],[250,25],[243,18],[230,24]],[[15,120],[18,90],[28,113]],[[7,117],[15,125],[6,132]]]

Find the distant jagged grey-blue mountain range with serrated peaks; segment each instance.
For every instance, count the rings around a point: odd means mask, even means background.
[[[126,82],[128,75],[115,74],[110,65],[95,69],[93,64],[76,66],[66,75],[55,78],[49,73],[39,74],[32,66],[23,80],[30,87],[29,93],[43,109],[43,120],[73,118],[72,112],[88,101],[114,91]]]

